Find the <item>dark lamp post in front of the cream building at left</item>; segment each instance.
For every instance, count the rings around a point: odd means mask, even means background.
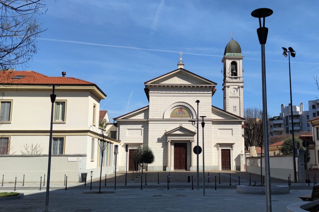
[[[47,174],[47,191],[45,196],[45,211],[49,209],[49,189],[50,189],[50,171],[51,171],[51,151],[52,151],[52,127],[53,127],[53,107],[54,102],[56,101],[56,95],[54,94],[55,85],[52,85],[52,94],[51,98],[51,123],[50,123],[50,138],[49,138],[49,158],[48,158],[48,174]]]

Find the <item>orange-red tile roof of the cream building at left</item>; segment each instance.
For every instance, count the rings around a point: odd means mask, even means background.
[[[15,76],[24,76],[12,79]],[[47,85],[95,85],[92,82],[74,77],[50,77],[35,71],[0,71],[0,84],[47,84]]]

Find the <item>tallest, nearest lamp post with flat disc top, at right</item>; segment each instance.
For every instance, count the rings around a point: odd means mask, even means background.
[[[262,70],[262,92],[263,92],[263,138],[265,148],[265,177],[266,177],[266,210],[271,211],[271,190],[270,190],[270,167],[269,167],[269,145],[268,145],[268,120],[267,120],[267,91],[266,91],[266,64],[265,44],[267,41],[268,28],[265,27],[265,18],[273,13],[271,9],[259,8],[251,12],[255,18],[259,18],[257,35],[261,45],[261,70]],[[261,25],[263,18],[263,27]]]

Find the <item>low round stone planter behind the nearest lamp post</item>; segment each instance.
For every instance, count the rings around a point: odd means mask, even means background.
[[[289,194],[289,186],[271,186],[271,194]],[[266,194],[264,186],[237,186],[237,192],[240,194]]]

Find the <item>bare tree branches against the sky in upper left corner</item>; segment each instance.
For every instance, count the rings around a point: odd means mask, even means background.
[[[44,0],[0,0],[0,68],[25,65],[37,53],[41,30],[38,15],[47,11]]]

